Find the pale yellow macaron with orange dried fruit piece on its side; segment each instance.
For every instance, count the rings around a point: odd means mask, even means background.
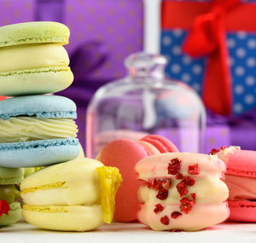
[[[119,170],[95,159],[51,165],[20,184],[26,222],[41,229],[87,231],[111,223]]]

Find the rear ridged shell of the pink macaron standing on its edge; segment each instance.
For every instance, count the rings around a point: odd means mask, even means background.
[[[160,153],[179,152],[177,147],[164,136],[148,135],[144,136],[140,140],[151,143],[160,151]]]

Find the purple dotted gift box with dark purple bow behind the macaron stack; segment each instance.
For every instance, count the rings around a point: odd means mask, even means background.
[[[0,0],[0,26],[49,20],[71,32],[65,48],[74,82],[57,95],[76,102],[84,147],[91,96],[102,84],[125,76],[125,57],[143,49],[143,0]]]

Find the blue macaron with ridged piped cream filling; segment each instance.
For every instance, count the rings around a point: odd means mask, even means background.
[[[40,167],[79,155],[76,105],[58,95],[0,101],[0,166]]]

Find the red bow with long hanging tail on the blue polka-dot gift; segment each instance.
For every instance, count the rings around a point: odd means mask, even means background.
[[[195,18],[192,30],[183,45],[184,52],[193,57],[209,55],[202,98],[207,107],[221,114],[231,113],[233,99],[224,17],[238,3],[240,0],[213,1],[210,12]],[[216,73],[219,73],[218,77]]]

